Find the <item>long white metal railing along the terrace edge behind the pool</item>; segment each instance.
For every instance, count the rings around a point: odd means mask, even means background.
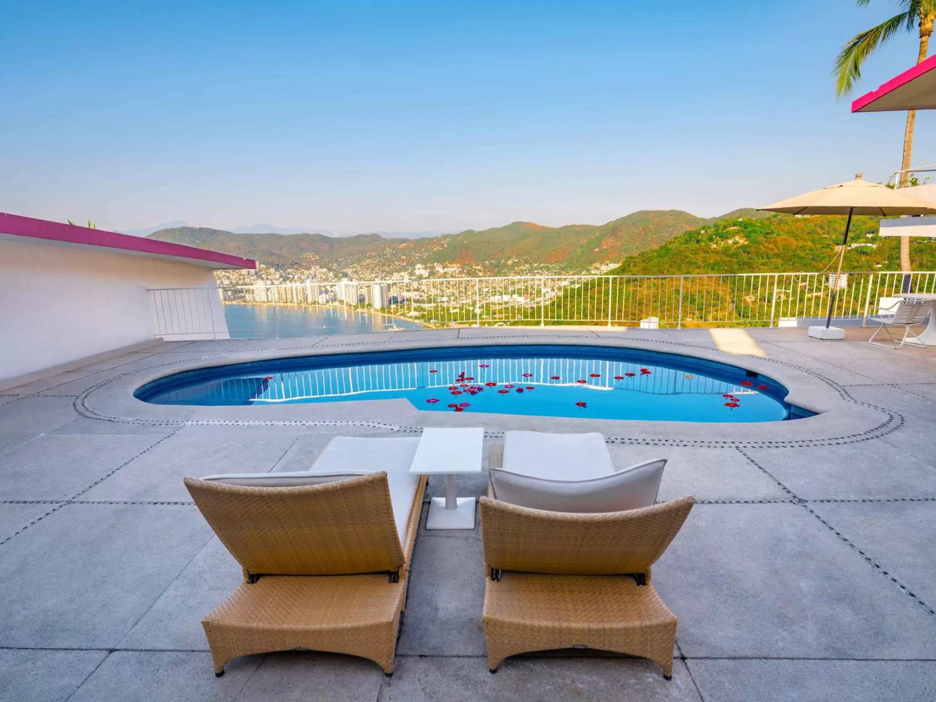
[[[909,275],[907,286],[905,274],[899,271],[843,273],[833,317],[840,323],[863,323],[879,314],[884,302],[901,290],[936,292],[936,272]],[[387,315],[375,328],[390,329],[397,323],[405,325],[402,320],[428,327],[682,329],[796,326],[825,318],[834,278],[834,273],[550,275],[257,284],[152,292],[159,336],[187,333],[202,334],[199,338],[227,338],[228,330],[235,336],[303,335],[301,323],[290,325],[291,329],[281,325],[279,320],[289,309],[350,317]],[[217,306],[212,300],[217,300]],[[235,308],[250,314],[235,314]],[[245,321],[248,317],[249,322]],[[314,329],[304,331],[311,333]]]

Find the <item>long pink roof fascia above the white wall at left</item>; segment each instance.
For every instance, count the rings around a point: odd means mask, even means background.
[[[63,225],[60,222],[49,222],[44,219],[22,217],[19,214],[7,214],[6,212],[0,212],[0,234],[41,239],[49,243],[64,244],[66,246],[71,244],[81,248],[100,247],[117,253],[137,256],[166,257],[176,260],[188,259],[192,263],[209,268],[256,269],[256,261],[250,258],[230,256],[229,254],[221,254],[207,249],[197,249],[195,246],[185,246],[181,243],[133,237],[128,234],[118,234],[115,231]],[[212,266],[212,264],[217,265]]]

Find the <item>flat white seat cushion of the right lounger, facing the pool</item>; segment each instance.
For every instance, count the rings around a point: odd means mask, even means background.
[[[614,473],[614,464],[605,437],[597,432],[507,431],[504,470],[548,480],[587,480]]]

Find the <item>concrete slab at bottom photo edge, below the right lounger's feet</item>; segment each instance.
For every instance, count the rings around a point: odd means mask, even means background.
[[[496,675],[487,658],[397,655],[380,702],[557,702],[589,700],[700,701],[686,666],[674,662],[673,680],[660,666],[637,658],[508,658]]]

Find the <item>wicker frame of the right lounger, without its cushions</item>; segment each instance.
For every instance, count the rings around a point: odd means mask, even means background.
[[[481,498],[490,672],[529,651],[589,648],[673,674],[676,617],[651,583],[692,509],[686,497],[625,512],[547,512]]]

